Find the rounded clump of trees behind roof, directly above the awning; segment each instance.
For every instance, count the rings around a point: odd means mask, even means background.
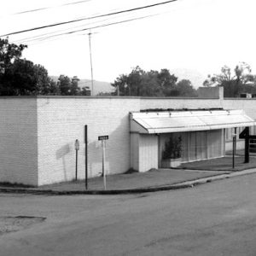
[[[196,96],[196,90],[186,81],[177,83],[177,77],[166,68],[146,72],[137,66],[130,74],[119,75],[111,85],[113,94],[119,96]]]

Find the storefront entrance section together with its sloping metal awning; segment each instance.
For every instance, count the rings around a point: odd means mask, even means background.
[[[243,110],[131,113],[131,167],[176,167],[225,154],[225,129],[256,123]]]

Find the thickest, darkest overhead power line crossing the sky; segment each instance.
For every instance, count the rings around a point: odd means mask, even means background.
[[[166,2],[154,3],[154,4],[145,5],[145,6],[137,7],[137,8],[133,8],[133,9],[125,9],[125,10],[121,10],[121,11],[117,11],[117,12],[113,12],[113,13],[108,13],[106,15],[96,15],[96,16],[91,16],[91,17],[87,17],[87,18],[77,19],[77,20],[63,21],[63,22],[59,22],[59,23],[55,23],[55,24],[46,25],[46,26],[37,26],[37,27],[30,28],[30,29],[26,29],[26,30],[21,30],[21,31],[18,31],[18,32],[10,32],[8,34],[0,35],[0,37],[7,37],[7,36],[10,36],[10,35],[20,34],[20,33],[24,33],[24,32],[31,32],[31,31],[35,31],[35,30],[39,30],[39,29],[44,29],[44,28],[47,28],[47,27],[52,27],[52,26],[61,26],[61,25],[70,24],[70,23],[73,23],[73,22],[78,22],[78,21],[81,21],[81,20],[91,20],[91,19],[102,18],[102,17],[106,17],[106,16],[110,16],[110,15],[119,15],[119,14],[132,12],[132,11],[136,11],[136,10],[140,10],[140,9],[148,9],[148,8],[152,8],[152,7],[155,7],[155,6],[160,6],[160,5],[163,5],[163,4],[172,3],[172,2],[176,2],[176,1],[177,0],[169,0],[169,1],[166,1]]]

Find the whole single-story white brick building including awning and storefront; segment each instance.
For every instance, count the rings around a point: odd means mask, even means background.
[[[150,111],[156,108],[198,111],[159,112],[158,119],[153,118],[157,113]],[[230,112],[200,111],[219,108]],[[244,113],[233,112],[236,109]],[[162,166],[161,160],[168,157],[167,149],[172,148],[173,142],[177,142],[177,147],[170,149],[172,155],[181,156],[183,161],[222,156],[224,148],[230,147],[233,132],[230,127],[253,125],[255,109],[255,98],[224,99],[221,95],[212,98],[2,96],[0,183],[40,186],[73,180],[76,140],[80,146],[78,178],[84,179],[84,125],[88,128],[89,177],[102,173],[100,136],[108,136],[107,175],[130,168],[145,172],[147,168]],[[148,113],[142,113],[143,110]],[[174,119],[174,123],[169,123]],[[137,121],[137,127],[133,121]],[[237,141],[237,146],[243,144],[243,140]],[[143,157],[152,164],[145,165]]]

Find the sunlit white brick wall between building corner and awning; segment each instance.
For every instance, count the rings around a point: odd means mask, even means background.
[[[88,172],[102,172],[98,137],[108,135],[106,172],[130,168],[130,111],[139,111],[138,98],[42,97],[38,98],[39,184],[75,177],[74,142],[79,139],[79,178],[84,178],[84,125],[88,125]]]

